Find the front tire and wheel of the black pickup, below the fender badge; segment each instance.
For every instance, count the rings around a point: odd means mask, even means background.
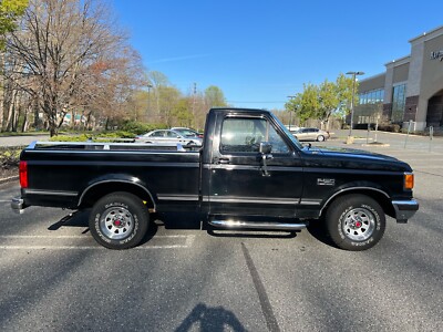
[[[328,208],[326,226],[332,242],[346,250],[361,251],[383,237],[387,219],[380,205],[365,195],[347,195]]]

